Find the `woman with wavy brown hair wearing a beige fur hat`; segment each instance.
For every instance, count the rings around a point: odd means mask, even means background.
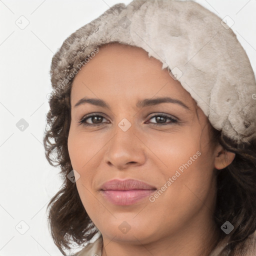
[[[44,146],[64,183],[49,224],[64,255],[96,235],[77,256],[255,255],[256,84],[219,17],[116,4],[63,42],[51,82]]]

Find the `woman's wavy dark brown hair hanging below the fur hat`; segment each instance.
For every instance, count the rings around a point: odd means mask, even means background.
[[[45,156],[52,166],[60,166],[63,179],[61,189],[47,205],[51,235],[63,255],[66,255],[63,249],[69,250],[73,243],[81,246],[98,232],[82,205],[75,182],[67,178],[67,174],[72,171],[67,150],[71,120],[70,91],[71,86],[49,99],[50,109],[43,137]],[[228,236],[229,243],[219,255],[233,255],[234,252],[243,255],[246,239],[256,230],[256,139],[246,144],[235,144],[221,131],[211,125],[209,127],[212,141],[219,142],[223,148],[235,153],[231,164],[215,170],[216,227],[220,228],[226,220],[234,226],[228,235],[220,232],[217,242]]]

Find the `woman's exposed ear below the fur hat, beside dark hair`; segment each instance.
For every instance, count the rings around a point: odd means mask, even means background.
[[[223,169],[233,161],[234,157],[235,153],[226,151],[218,144],[215,149],[214,167],[216,169]]]

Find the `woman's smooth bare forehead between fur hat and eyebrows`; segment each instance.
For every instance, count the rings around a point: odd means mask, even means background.
[[[174,80],[162,63],[139,47],[110,43],[99,47],[98,53],[76,74],[71,102],[82,95],[125,98],[171,96],[193,105],[194,100]]]

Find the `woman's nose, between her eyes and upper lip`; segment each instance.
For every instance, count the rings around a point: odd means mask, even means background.
[[[139,166],[145,162],[146,146],[141,133],[134,125],[126,131],[116,125],[105,146],[104,162],[116,169],[127,169],[129,166]]]

